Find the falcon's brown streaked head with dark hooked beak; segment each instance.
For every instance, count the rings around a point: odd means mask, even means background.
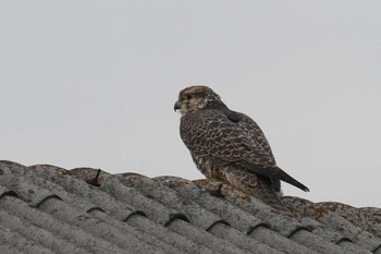
[[[224,106],[221,98],[208,86],[189,86],[179,93],[179,99],[174,104],[174,110],[179,110],[182,116],[205,108],[216,108]]]

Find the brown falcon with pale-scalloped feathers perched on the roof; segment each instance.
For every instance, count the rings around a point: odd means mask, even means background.
[[[258,124],[233,111],[207,86],[182,89],[174,110],[181,112],[180,134],[198,170],[255,195],[278,210],[281,181],[303,191],[308,188],[276,166]]]

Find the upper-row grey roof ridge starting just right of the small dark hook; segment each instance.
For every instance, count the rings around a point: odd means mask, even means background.
[[[187,218],[189,218],[190,223],[198,228],[207,230],[216,222],[223,221],[213,213],[210,213],[188,198],[184,198],[177,192],[161,185],[159,182],[156,182],[150,178],[137,173],[123,173],[116,176],[123,184],[142,190],[146,194],[155,197],[155,199],[186,215]]]

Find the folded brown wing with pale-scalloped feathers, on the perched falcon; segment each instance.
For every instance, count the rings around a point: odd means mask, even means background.
[[[196,157],[208,157],[221,166],[234,164],[268,177],[275,190],[280,188],[279,180],[308,190],[276,167],[262,131],[245,114],[239,121],[232,121],[224,111],[218,109],[188,113],[182,118],[181,136]]]

